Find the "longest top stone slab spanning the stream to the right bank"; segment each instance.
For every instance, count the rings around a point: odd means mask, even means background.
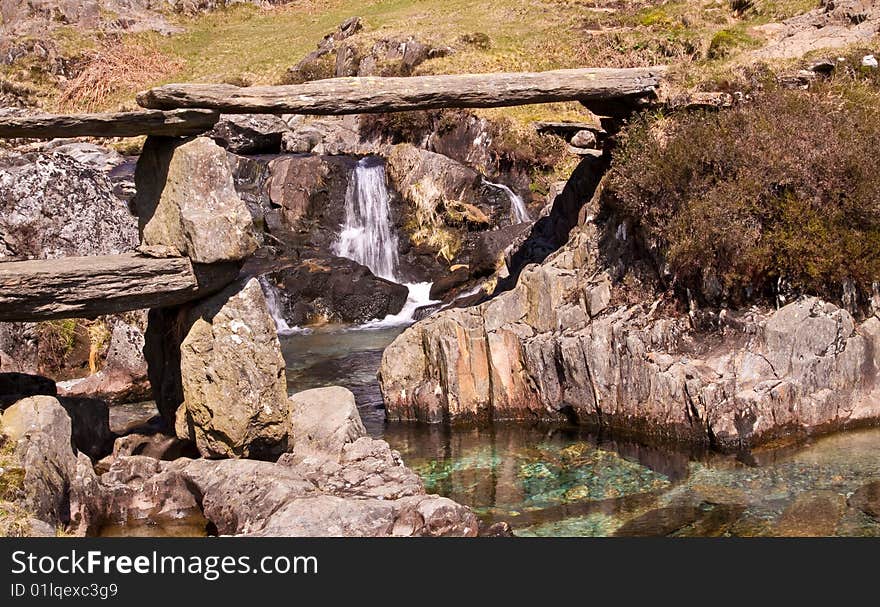
[[[166,84],[138,94],[137,100],[147,108],[202,107],[228,114],[361,114],[555,101],[610,102],[653,97],[665,71],[664,66],[585,68],[409,78],[330,78],[305,84],[250,87]]]

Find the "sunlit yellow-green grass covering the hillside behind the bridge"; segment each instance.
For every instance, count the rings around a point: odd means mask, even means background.
[[[752,26],[817,5],[818,0],[755,0],[742,15],[726,0],[295,0],[267,9],[235,5],[195,17],[170,16],[185,30],[181,34],[125,37],[123,44],[155,49],[176,67],[157,73],[147,84],[122,83],[100,109],[133,108],[138,89],[169,82],[277,84],[324,35],[355,15],[365,23],[352,39],[358,46],[412,35],[454,49],[419,66],[417,74],[670,64],[677,67],[673,73],[683,74],[683,84],[692,84],[701,74],[735,64],[754,43]],[[602,10],[607,7],[615,10]],[[99,46],[88,32],[72,28],[58,28],[52,36],[65,54]],[[37,75],[23,78],[33,82]],[[46,86],[41,95],[47,108],[58,109]],[[556,118],[552,112],[558,109],[505,108],[500,113],[527,121]],[[566,113],[575,120],[585,116],[570,107]]]

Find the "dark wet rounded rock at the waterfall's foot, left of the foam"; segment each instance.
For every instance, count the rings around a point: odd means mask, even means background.
[[[294,325],[385,318],[400,312],[409,295],[405,286],[342,257],[304,259],[270,277],[280,289],[282,314]]]

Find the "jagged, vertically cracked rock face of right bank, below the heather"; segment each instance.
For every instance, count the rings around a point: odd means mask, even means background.
[[[598,242],[587,223],[511,291],[401,334],[380,369],[389,417],[574,418],[721,447],[880,417],[880,320],[804,299],[722,313],[719,341],[656,305],[613,304]]]

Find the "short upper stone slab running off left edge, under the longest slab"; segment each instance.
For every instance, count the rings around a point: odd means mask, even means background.
[[[211,130],[219,117],[218,112],[204,109],[8,116],[0,118],[0,137],[52,139],[197,135]]]

